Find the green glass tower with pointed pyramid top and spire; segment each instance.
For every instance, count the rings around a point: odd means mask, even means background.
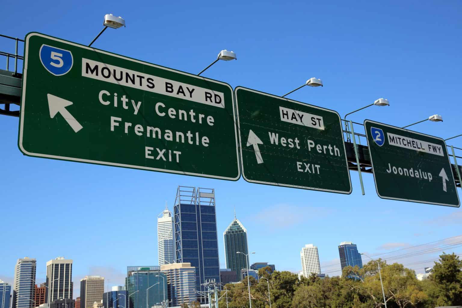
[[[241,269],[247,269],[249,257],[246,260],[245,255],[237,254],[237,252],[249,254],[249,245],[247,244],[247,230],[236,218],[236,212],[234,212],[234,220],[226,228],[225,232],[223,232],[223,238],[225,242],[226,268],[235,271],[237,279],[242,280]]]

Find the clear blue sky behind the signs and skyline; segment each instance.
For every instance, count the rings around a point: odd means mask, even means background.
[[[461,2],[373,2],[6,1],[0,29],[88,44],[103,15],[113,13],[127,27],[108,29],[94,47],[192,73],[221,49],[233,50],[237,61],[219,61],[203,76],[276,95],[317,77],[324,87],[305,87],[290,98],[344,115],[385,97],[389,107],[373,106],[351,119],[404,126],[439,114],[444,122],[413,129],[443,138],[460,134]],[[10,42],[0,42],[2,51],[14,52]],[[12,283],[16,259],[29,256],[37,259],[42,282],[46,261],[65,256],[74,260],[74,297],[85,275],[101,274],[110,287],[123,283],[128,265],[157,264],[156,217],[166,201],[171,209],[178,185],[215,188],[221,267],[221,235],[234,207],[256,252],[250,261],[278,270],[299,271],[299,252],[308,243],[331,270],[340,268],[342,241],[379,254],[462,234],[460,209],[379,199],[369,174],[365,196],[357,172],[351,172],[353,193],[340,195],[26,157],[17,138],[18,118],[1,116],[0,279]],[[451,141],[462,147],[462,138]],[[422,272],[431,263],[410,267]]]

